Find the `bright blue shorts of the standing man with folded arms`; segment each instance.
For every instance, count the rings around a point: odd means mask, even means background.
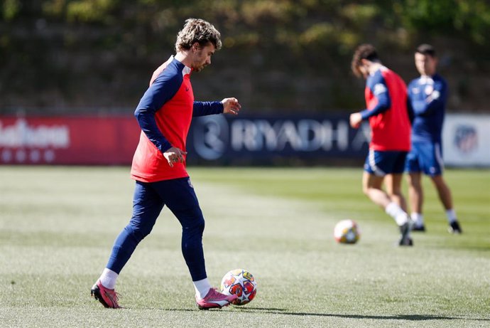
[[[408,173],[423,172],[429,176],[442,174],[444,162],[439,142],[413,142],[407,155],[405,171]]]

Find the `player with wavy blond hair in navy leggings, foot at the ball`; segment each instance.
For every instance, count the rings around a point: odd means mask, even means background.
[[[119,308],[116,278],[138,243],[151,232],[163,206],[168,206],[182,225],[182,253],[195,287],[197,306],[220,308],[236,299],[236,295],[217,292],[207,280],[202,249],[205,219],[185,168],[185,143],[192,117],[236,115],[241,107],[233,97],[194,101],[190,74],[209,65],[221,46],[220,34],[212,24],[187,19],[177,36],[175,57],[160,67],[160,74],[136,107],[134,115],[141,135],[131,166],[131,177],[136,180],[133,215],[114,241],[107,267],[92,287],[92,295],[104,307]]]

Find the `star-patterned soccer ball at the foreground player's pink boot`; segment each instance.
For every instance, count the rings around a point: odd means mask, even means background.
[[[257,282],[247,270],[235,269],[229,271],[221,280],[222,293],[236,295],[238,298],[233,305],[246,305],[257,293]]]

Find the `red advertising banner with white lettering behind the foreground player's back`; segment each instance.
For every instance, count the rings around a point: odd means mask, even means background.
[[[0,164],[131,164],[132,116],[0,117]]]

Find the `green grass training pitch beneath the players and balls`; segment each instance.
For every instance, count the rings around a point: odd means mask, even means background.
[[[89,290],[131,215],[129,168],[0,166],[0,327],[490,327],[489,170],[445,173],[462,236],[447,233],[424,180],[428,231],[413,248],[394,246],[396,225],[361,193],[361,168],[189,171],[209,280],[249,270],[254,301],[197,310],[164,209],[119,277],[125,308],[103,308]],[[361,228],[356,245],[334,242],[344,218]]]

